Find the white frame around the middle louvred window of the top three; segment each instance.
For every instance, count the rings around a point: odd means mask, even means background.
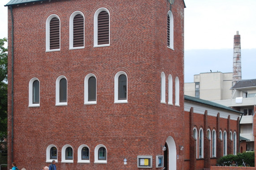
[[[80,15],[82,15],[82,17],[83,17],[83,46],[82,47],[74,47],[73,46],[73,40],[74,40],[74,17],[76,16],[76,15],[78,15],[78,14],[80,14]],[[72,13],[71,14],[71,16],[70,16],[70,18],[69,18],[69,50],[74,50],[74,49],[82,49],[82,48],[84,48],[84,30],[85,30],[85,28],[84,28],[84,15],[83,15],[83,13],[82,12],[80,12],[80,11],[75,11],[74,13]]]

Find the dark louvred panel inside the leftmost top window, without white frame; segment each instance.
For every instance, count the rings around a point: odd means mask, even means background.
[[[60,20],[56,17],[50,21],[50,50],[60,48]]]

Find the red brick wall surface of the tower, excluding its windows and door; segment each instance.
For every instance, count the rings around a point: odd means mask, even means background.
[[[156,4],[154,4],[156,3]],[[162,6],[161,6],[162,5]],[[110,46],[93,47],[93,16],[97,9],[110,12]],[[153,169],[160,145],[173,136],[177,169],[183,169],[183,17],[184,4],[176,0],[174,14],[174,51],[166,47],[166,18],[169,4],[157,1],[84,2],[52,0],[13,7],[14,16],[14,141],[13,161],[18,168],[35,169],[46,163],[46,148],[58,149],[57,169],[120,170],[137,169],[138,155],[152,155]],[[26,13],[24,12],[26,11]],[[85,16],[85,48],[69,50],[69,17],[75,11]],[[151,13],[150,13],[151,11]],[[45,52],[45,22],[56,14],[61,22],[61,50]],[[9,50],[11,17],[9,10]],[[164,24],[158,27],[159,22]],[[166,52],[167,51],[167,52]],[[11,54],[9,51],[8,135],[11,153]],[[128,103],[114,104],[114,76],[124,71],[128,79]],[[161,72],[179,77],[180,106],[160,104]],[[97,79],[97,104],[84,105],[84,78],[93,73]],[[58,76],[68,82],[68,106],[55,106]],[[40,81],[40,107],[28,107],[31,78]],[[166,88],[166,98],[168,98]],[[175,85],[173,83],[173,93]],[[173,95],[175,98],[175,95]],[[175,101],[174,101],[175,102]],[[61,163],[61,149],[73,148],[74,163]],[[81,144],[90,149],[90,163],[77,163]],[[107,164],[94,163],[94,149],[104,144]],[[25,159],[24,159],[25,158]],[[124,165],[123,159],[127,159]],[[37,162],[35,164],[35,162]],[[8,164],[10,168],[11,154]]]

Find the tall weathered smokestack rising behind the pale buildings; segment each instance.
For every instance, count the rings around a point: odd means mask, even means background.
[[[239,32],[234,35],[234,56],[233,56],[233,85],[242,80],[241,72],[241,42]]]

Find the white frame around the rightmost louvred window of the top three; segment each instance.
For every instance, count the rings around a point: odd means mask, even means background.
[[[106,11],[109,16],[109,32],[108,32],[109,39],[108,39],[108,44],[98,45],[98,15],[102,11]],[[94,46],[93,47],[107,47],[107,46],[110,46],[110,13],[108,9],[100,8],[100,9],[97,9],[97,11],[94,14]]]

